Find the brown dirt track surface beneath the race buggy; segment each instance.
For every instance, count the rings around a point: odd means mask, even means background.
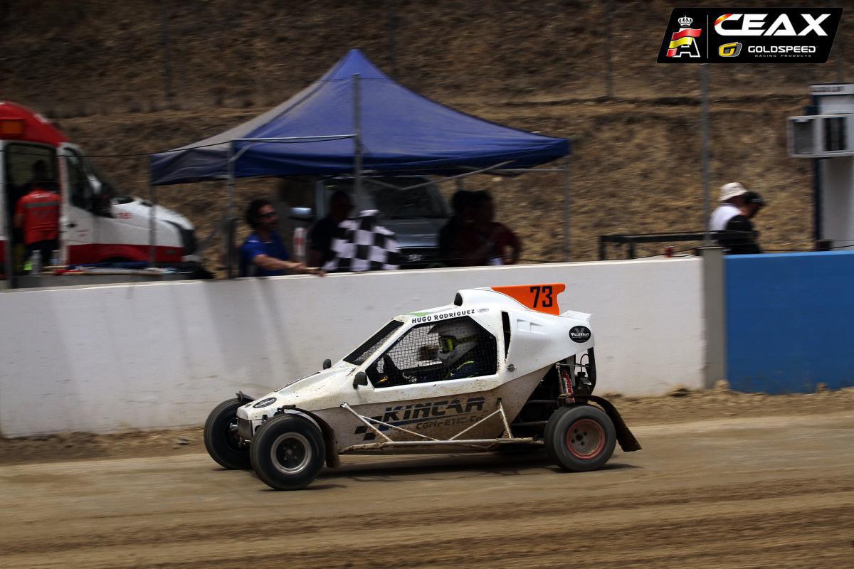
[[[305,491],[276,492],[196,444],[175,456],[3,466],[0,559],[18,569],[847,568],[850,392],[793,396],[812,404],[789,415],[771,403],[765,416],[633,416],[643,450],[617,450],[594,473],[561,473],[543,455],[354,456]],[[714,397],[658,401],[701,409]]]

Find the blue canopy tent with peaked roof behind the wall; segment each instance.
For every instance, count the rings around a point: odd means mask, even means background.
[[[518,173],[570,155],[570,141],[478,119],[413,93],[352,49],[323,77],[242,125],[150,156],[159,185],[238,177]],[[543,171],[536,169],[533,171]],[[552,170],[553,171],[553,170]],[[569,164],[566,172],[569,249]],[[231,272],[231,271],[230,271]]]

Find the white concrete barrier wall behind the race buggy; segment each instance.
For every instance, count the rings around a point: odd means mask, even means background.
[[[597,392],[703,386],[699,258],[185,281],[0,293],[3,436],[201,425],[460,288],[564,282],[593,314]]]

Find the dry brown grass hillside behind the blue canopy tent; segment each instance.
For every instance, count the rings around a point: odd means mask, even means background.
[[[572,139],[572,253],[592,259],[598,235],[703,225],[699,67],[655,62],[672,7],[0,0],[0,97],[56,119],[88,154],[146,153],[262,113],[358,47],[401,84],[437,101]],[[709,69],[712,189],[739,180],[763,193],[770,205],[757,227],[769,249],[811,247],[812,165],[787,157],[786,117],[809,103],[810,83],[849,78],[845,52],[854,31],[846,18],[828,64]],[[93,160],[122,191],[148,195],[143,156]],[[563,258],[562,177],[481,177],[477,184],[493,191],[499,218],[523,237],[524,258]],[[271,186],[242,181],[238,191],[244,200]],[[225,210],[223,184],[166,187],[158,197],[190,217],[202,236]]]

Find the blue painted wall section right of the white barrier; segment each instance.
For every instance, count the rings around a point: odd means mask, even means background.
[[[854,386],[854,252],[733,255],[725,264],[733,389]]]

